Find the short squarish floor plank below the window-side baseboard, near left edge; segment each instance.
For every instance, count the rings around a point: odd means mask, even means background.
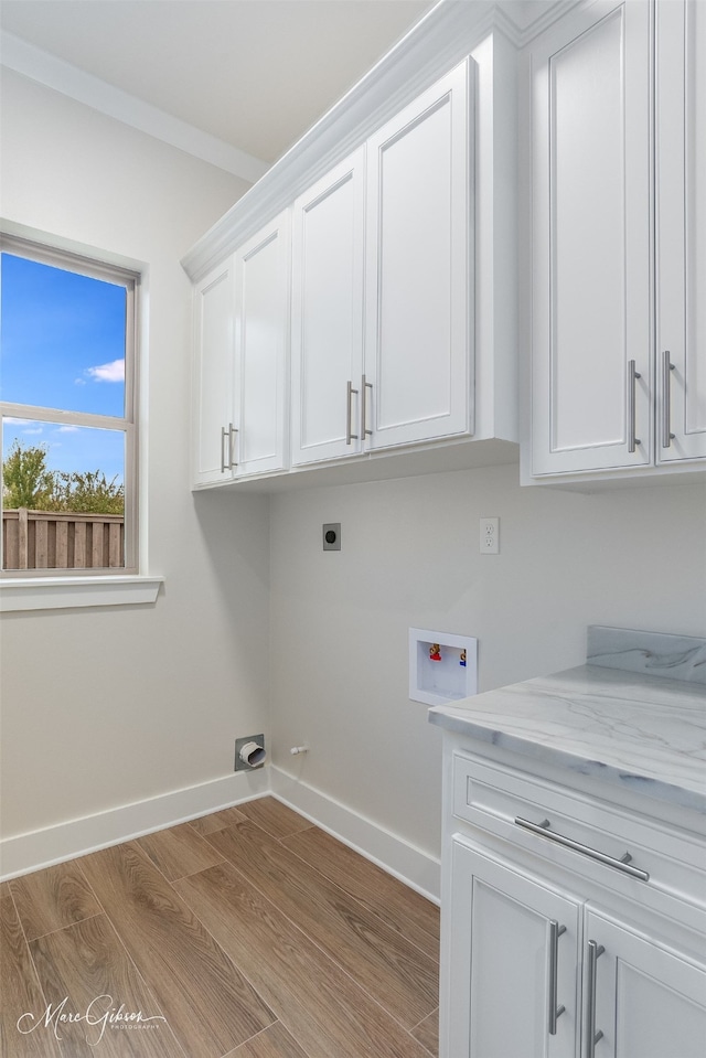
[[[29,941],[103,910],[74,863],[36,870],[9,885]]]

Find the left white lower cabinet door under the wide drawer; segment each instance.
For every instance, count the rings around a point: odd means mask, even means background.
[[[575,1058],[579,902],[470,843],[451,870],[441,1058]]]

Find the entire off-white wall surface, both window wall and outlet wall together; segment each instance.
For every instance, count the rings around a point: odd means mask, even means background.
[[[706,633],[704,487],[578,495],[505,467],[192,496],[179,258],[244,185],[17,75],[2,136],[3,216],[149,265],[149,552],[167,577],[154,608],[4,617],[4,836],[229,777],[236,735],[269,734],[271,683],[276,763],[437,856],[440,733],[408,699],[409,626],[478,637],[481,690],[580,663],[589,623]],[[501,517],[496,557],[481,515]]]

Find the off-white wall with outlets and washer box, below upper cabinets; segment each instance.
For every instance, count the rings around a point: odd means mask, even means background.
[[[706,634],[703,485],[579,495],[499,467],[271,502],[275,763],[431,856],[440,731],[408,698],[410,626],[477,637],[480,691],[582,664],[591,623]]]

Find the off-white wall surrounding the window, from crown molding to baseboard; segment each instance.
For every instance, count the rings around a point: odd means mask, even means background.
[[[2,97],[4,218],[149,267],[153,608],[6,615],[3,836],[233,773],[267,726],[268,504],[189,491],[190,284],[236,178],[30,81]],[[135,824],[137,825],[137,824]]]

